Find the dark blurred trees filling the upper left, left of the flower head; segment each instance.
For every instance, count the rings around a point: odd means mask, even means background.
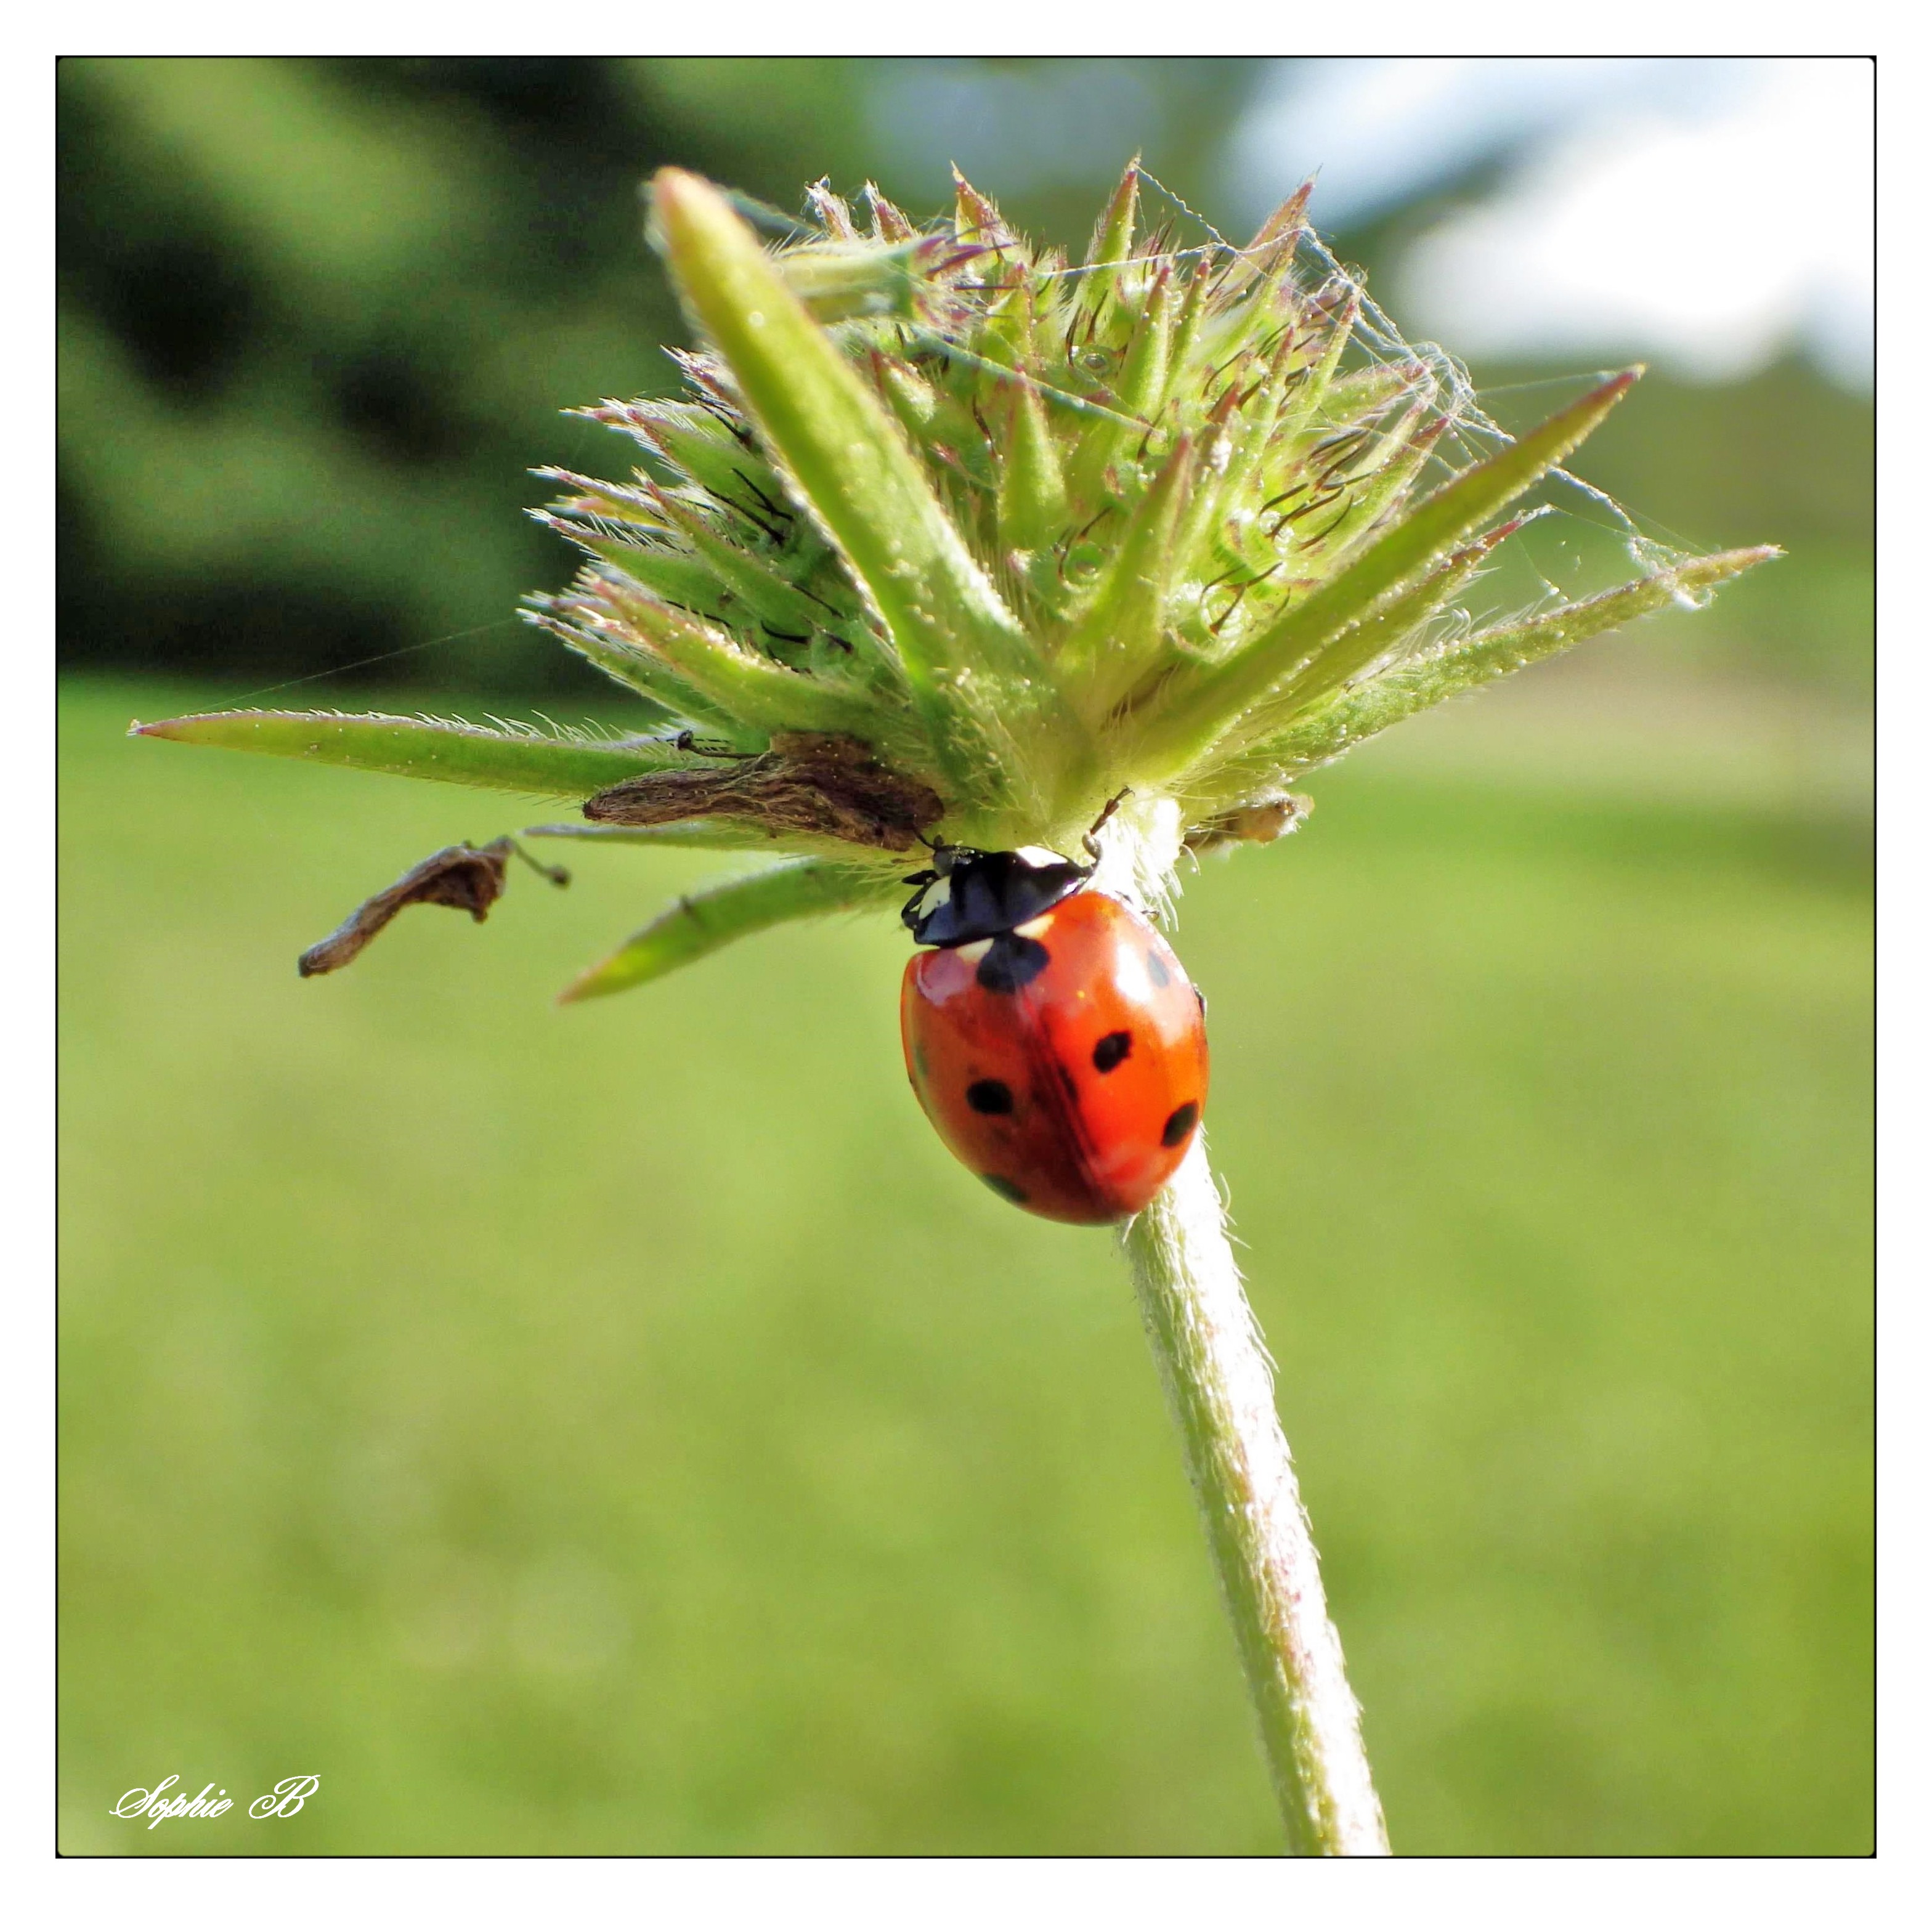
[[[668,382],[639,180],[676,160],[790,205],[852,164],[854,116],[815,110],[837,68],[777,62],[782,100],[744,112],[707,66],[709,87],[597,60],[64,62],[62,664],[259,682],[562,583],[526,467],[603,454],[560,408]],[[404,670],[583,684],[510,624]]]

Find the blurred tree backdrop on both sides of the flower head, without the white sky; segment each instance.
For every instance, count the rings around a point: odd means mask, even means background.
[[[583,664],[512,616],[572,564],[524,510],[547,496],[531,465],[626,464],[566,408],[670,384],[659,348],[682,324],[638,201],[653,168],[779,209],[825,174],[848,191],[877,178],[929,214],[956,155],[1020,224],[1078,243],[1130,145],[1219,216],[1258,73],[62,62],[60,662],[238,695],[327,672],[305,693],[325,703],[377,682],[593,695]],[[1418,224],[1488,178],[1437,182],[1337,247],[1381,284]],[[1520,425],[1555,402],[1548,371],[1478,367],[1478,384]],[[1673,622],[1673,647],[1859,695],[1870,444],[1868,402],[1785,365],[1712,388],[1654,375],[1578,465],[1673,543],[1791,547],[1708,618]]]

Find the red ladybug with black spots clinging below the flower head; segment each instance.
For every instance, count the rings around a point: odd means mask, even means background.
[[[1208,1101],[1200,993],[1090,865],[941,848],[904,910],[898,1022],[947,1147],[1059,1223],[1119,1223],[1180,1168]]]

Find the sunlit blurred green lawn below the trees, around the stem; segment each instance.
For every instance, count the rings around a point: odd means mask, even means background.
[[[120,736],[220,701],[60,707],[62,1846],[1273,1848],[1124,1271],[923,1126],[902,939],[562,1012],[715,861],[587,846],[299,983],[539,807]],[[1861,832],[1316,788],[1177,941],[1397,1846],[1868,1848]]]

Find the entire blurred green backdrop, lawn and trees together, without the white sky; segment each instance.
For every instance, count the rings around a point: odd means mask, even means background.
[[[568,570],[526,467],[622,467],[560,408],[668,384],[653,166],[929,212],[956,153],[1078,239],[1138,145],[1233,224],[1271,79],[62,64],[68,1852],[1277,1844],[1124,1273],[925,1130],[893,933],[556,1012],[703,875],[585,848],[298,985],[564,807],[122,738],[317,672],[269,701],[611,709],[508,614]],[[1337,249],[1381,284],[1501,164]],[[1474,367],[1505,419],[1565,371]],[[1578,469],[1791,556],[1188,885],[1408,1852],[1872,1843],[1870,440],[1795,353],[1654,373]],[[294,1821],[106,1812],[298,1771]]]

